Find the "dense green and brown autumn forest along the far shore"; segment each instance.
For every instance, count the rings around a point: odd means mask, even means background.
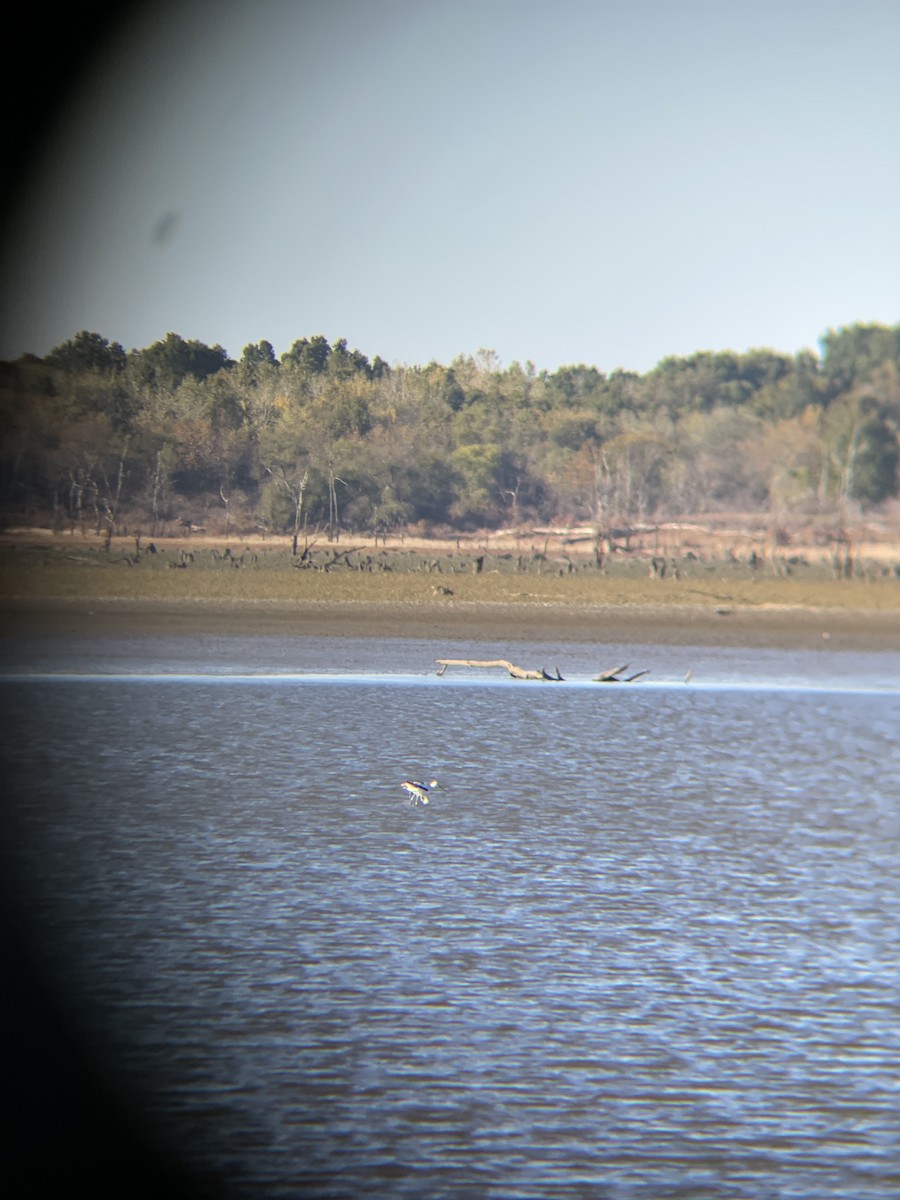
[[[80,332],[0,365],[2,520],[293,533],[828,514],[900,486],[900,325],[821,354],[667,358],[646,374],[388,365],[343,340],[239,361],[176,334]]]

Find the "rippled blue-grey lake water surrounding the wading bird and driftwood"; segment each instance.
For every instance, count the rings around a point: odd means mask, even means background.
[[[109,1086],[222,1196],[898,1195],[900,653],[494,654],[566,682],[6,647],[7,858]]]

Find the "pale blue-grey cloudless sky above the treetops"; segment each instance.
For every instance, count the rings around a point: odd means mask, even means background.
[[[898,61],[900,0],[136,8],[17,180],[0,358],[323,334],[643,373],[893,325]]]

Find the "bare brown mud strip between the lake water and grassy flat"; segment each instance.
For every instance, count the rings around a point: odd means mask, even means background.
[[[29,599],[0,601],[17,637],[401,637],[900,650],[900,612],[800,607],[367,600]]]

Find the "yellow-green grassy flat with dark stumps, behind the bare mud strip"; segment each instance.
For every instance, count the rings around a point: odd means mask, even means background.
[[[479,562],[480,559],[480,562]],[[868,571],[836,580],[821,563],[782,574],[745,563],[688,560],[660,578],[647,560],[588,562],[511,554],[458,554],[331,547],[313,568],[283,546],[184,545],[136,552],[134,544],[7,544],[0,547],[0,599],[166,601],[367,601],[456,607],[469,602],[538,606],[817,608],[900,612],[900,580]]]

